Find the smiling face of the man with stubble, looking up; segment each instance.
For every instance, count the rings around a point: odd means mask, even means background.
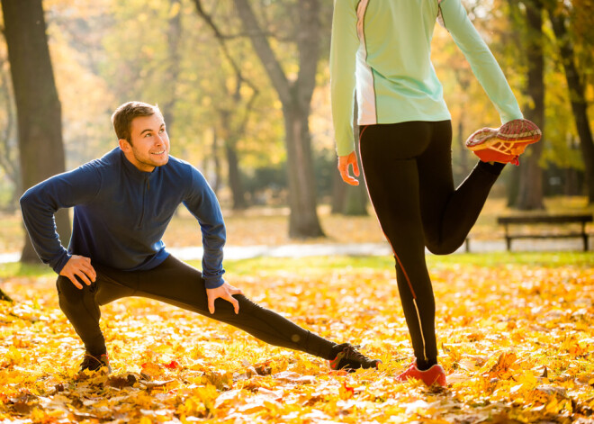
[[[137,116],[130,125],[130,140],[120,140],[120,148],[130,162],[144,172],[152,172],[169,161],[169,137],[163,117]]]

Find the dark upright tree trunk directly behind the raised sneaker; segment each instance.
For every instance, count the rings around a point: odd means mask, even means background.
[[[526,2],[527,17],[527,92],[532,104],[527,109],[527,119],[539,128],[545,128],[545,57],[543,55],[543,5],[541,0]],[[519,168],[518,201],[516,207],[523,211],[545,209],[543,202],[543,170],[538,160],[543,152],[544,140],[530,146],[522,155]]]

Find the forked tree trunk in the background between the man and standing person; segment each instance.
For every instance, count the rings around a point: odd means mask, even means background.
[[[316,209],[308,124],[320,56],[320,0],[302,0],[297,9],[294,41],[299,51],[299,71],[293,82],[284,74],[247,0],[234,0],[234,3],[252,46],[283,104],[291,209],[289,236],[299,239],[323,236]]]

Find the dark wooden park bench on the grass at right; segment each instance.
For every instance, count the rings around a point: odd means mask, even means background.
[[[498,223],[505,229],[505,240],[508,250],[511,250],[512,239],[570,239],[579,238],[584,242],[584,252],[588,251],[588,233],[586,223],[592,221],[592,215],[525,215],[525,216],[500,216]],[[557,225],[557,231],[540,232],[510,232],[510,227],[518,225]],[[570,225],[575,224],[575,225]],[[581,231],[576,230],[576,225],[581,224]],[[563,226],[563,227],[562,227]]]

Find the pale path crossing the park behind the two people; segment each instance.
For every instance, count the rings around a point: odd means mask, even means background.
[[[590,240],[591,246],[591,240]],[[472,240],[472,253],[489,253],[505,251],[505,241]],[[563,251],[583,249],[581,239],[518,239],[512,241],[512,251]],[[175,257],[182,260],[196,260],[202,258],[202,247],[167,248]],[[464,253],[464,246],[456,253]],[[389,256],[392,248],[384,243],[294,243],[282,246],[227,246],[225,259],[238,260],[253,257],[324,257],[324,256]],[[0,254],[0,263],[18,262],[20,253]]]

